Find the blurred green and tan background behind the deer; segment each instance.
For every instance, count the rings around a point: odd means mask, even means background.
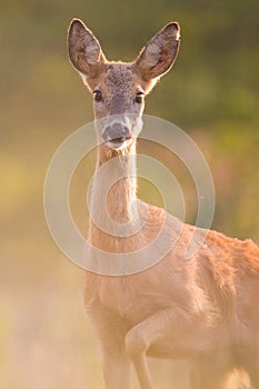
[[[108,59],[121,60],[132,60],[168,21],[180,23],[179,57],[147,98],[146,113],[178,124],[205,153],[217,192],[212,227],[259,242],[258,1],[1,1],[0,377],[4,389],[103,388],[98,349],[83,313],[82,271],[56,248],[42,206],[53,152],[67,136],[92,120],[91,97],[67,56],[67,28],[73,17],[94,31]],[[148,144],[142,148],[148,152]],[[92,158],[82,162],[71,189],[71,207],[82,229],[87,228],[86,182],[93,167]],[[146,182],[140,194],[159,202]],[[157,376],[162,371],[158,369]],[[178,388],[186,388],[183,378]]]

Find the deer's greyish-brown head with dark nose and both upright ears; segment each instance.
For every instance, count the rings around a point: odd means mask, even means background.
[[[179,50],[177,22],[163,27],[131,63],[108,61],[93,33],[73,19],[68,33],[70,60],[93,94],[100,142],[106,148],[127,148],[141,130],[145,96],[170,70]]]

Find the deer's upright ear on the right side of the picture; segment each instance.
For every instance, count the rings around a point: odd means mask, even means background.
[[[180,46],[180,27],[171,22],[163,27],[140,51],[135,67],[145,81],[159,78],[172,67]]]

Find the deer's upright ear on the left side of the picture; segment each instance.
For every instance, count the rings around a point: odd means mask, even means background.
[[[68,49],[73,67],[86,78],[94,78],[104,63],[100,43],[80,19],[73,19],[70,23]]]

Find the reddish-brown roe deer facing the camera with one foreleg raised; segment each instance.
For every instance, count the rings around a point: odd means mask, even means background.
[[[107,207],[108,218],[118,225],[142,226],[131,236],[116,236],[90,217],[89,241],[122,257],[149,245],[165,217],[169,220],[168,240],[175,239],[182,226],[171,251],[145,271],[122,271],[117,277],[86,271],[86,309],[100,341],[107,389],[130,388],[131,363],[140,387],[155,388],[147,356],[190,360],[191,388],[223,388],[227,375],[243,369],[258,389],[259,248],[251,240],[208,231],[205,243],[186,260],[185,249],[195,227],[137,200],[135,156],[145,96],[172,67],[179,31],[179,24],[170,22],[133,62],[124,63],[108,61],[81,20],[73,19],[70,24],[70,60],[93,94],[97,136],[101,140],[92,215],[102,213],[98,210]],[[103,173],[101,168],[107,162],[112,163]],[[104,197],[103,188],[116,169],[122,178]],[[141,207],[146,207],[145,216]],[[103,222],[106,215],[99,215]]]

